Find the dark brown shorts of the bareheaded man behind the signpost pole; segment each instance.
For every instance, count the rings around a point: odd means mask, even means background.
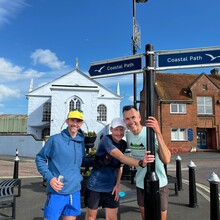
[[[160,188],[160,207],[161,211],[168,208],[169,189],[167,186]],[[137,203],[139,206],[144,207],[144,190],[137,187]]]

